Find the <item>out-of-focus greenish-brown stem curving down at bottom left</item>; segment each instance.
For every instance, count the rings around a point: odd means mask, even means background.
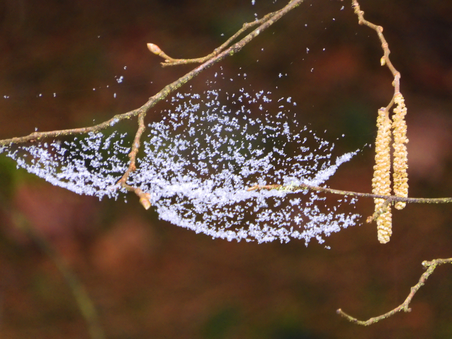
[[[86,321],[91,339],[105,339],[104,330],[100,325],[99,315],[93,301],[89,298],[83,284],[79,281],[75,273],[71,270],[66,260],[58,254],[53,246],[36,232],[33,227],[28,224],[28,220],[24,215],[15,213],[15,224],[36,243],[39,248],[52,259],[56,268],[60,271],[66,284],[71,289],[75,302],[79,307],[80,313]]]

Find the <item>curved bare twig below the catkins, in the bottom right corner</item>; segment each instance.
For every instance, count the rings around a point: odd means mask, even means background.
[[[363,325],[363,326],[368,326],[368,325],[372,325],[375,324],[377,321],[383,320],[385,318],[390,317],[391,315],[394,315],[397,312],[400,311],[405,311],[405,312],[411,312],[411,308],[409,308],[408,306],[410,305],[411,300],[414,297],[414,294],[416,294],[416,292],[418,292],[419,288],[424,286],[425,281],[427,280],[427,278],[430,276],[430,274],[433,273],[433,271],[435,270],[435,268],[438,265],[442,265],[442,264],[450,264],[452,263],[452,258],[449,259],[434,259],[432,261],[423,261],[422,265],[424,266],[424,268],[427,268],[427,271],[425,271],[421,277],[419,278],[419,282],[414,285],[413,287],[411,287],[411,292],[408,295],[408,297],[406,297],[405,301],[400,304],[399,306],[395,307],[395,309],[379,315],[377,317],[372,317],[369,320],[358,320],[356,318],[353,318],[351,315],[348,315],[347,313],[345,313],[344,311],[342,311],[340,308],[336,311],[337,314],[343,316],[345,319],[357,324],[357,325]]]

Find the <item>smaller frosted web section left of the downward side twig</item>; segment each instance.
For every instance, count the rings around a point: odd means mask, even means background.
[[[130,148],[126,133],[89,133],[72,141],[54,140],[32,145],[0,147],[0,153],[17,162],[17,167],[78,194],[102,198],[118,197],[116,183],[127,170]]]

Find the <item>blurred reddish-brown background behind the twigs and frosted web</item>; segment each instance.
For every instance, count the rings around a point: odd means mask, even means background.
[[[410,196],[452,196],[452,3],[360,4],[366,19],[384,27],[391,60],[402,74]],[[0,138],[35,127],[82,127],[137,108],[191,69],[162,69],[146,42],[173,57],[203,56],[254,20],[254,13],[260,18],[283,5],[3,0]],[[326,129],[331,141],[344,133],[337,146],[352,151],[372,143],[377,109],[392,96],[381,55],[375,32],[358,25],[348,1],[306,0],[219,66],[231,77],[245,71],[256,90],[278,86],[274,97],[292,96],[303,123]],[[219,66],[188,85],[203,90]],[[121,75],[119,84],[115,77]],[[148,120],[160,120],[163,108],[155,107]],[[369,192],[372,152],[365,148],[328,184]],[[450,206],[396,211],[387,245],[378,243],[374,224],[363,224],[326,238],[331,246],[326,250],[296,240],[262,245],[212,240],[159,221],[136,197],[125,203],[78,196],[16,170],[5,156],[0,194],[0,338],[89,337],[71,290],[49,257],[17,228],[17,214],[69,262],[108,338],[452,336],[449,266],[428,279],[411,313],[367,328],[335,314],[339,307],[360,319],[389,311],[418,281],[423,260],[451,257]],[[372,208],[372,201],[358,203],[363,217]]]

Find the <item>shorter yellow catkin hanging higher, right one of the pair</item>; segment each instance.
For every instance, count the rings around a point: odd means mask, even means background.
[[[408,174],[406,173],[407,165],[407,155],[406,151],[406,143],[408,139],[406,138],[406,107],[405,100],[403,99],[402,94],[395,95],[394,98],[395,104],[397,107],[394,108],[394,115],[392,116],[392,129],[394,135],[394,143],[392,146],[394,147],[394,194],[398,197],[408,197]],[[405,207],[405,202],[396,202],[395,208],[401,210]]]

